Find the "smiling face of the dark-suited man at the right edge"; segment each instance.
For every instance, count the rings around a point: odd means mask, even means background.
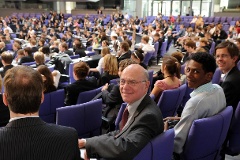
[[[235,65],[238,59],[237,56],[231,57],[227,48],[219,48],[216,50],[216,63],[223,73],[229,72]]]

